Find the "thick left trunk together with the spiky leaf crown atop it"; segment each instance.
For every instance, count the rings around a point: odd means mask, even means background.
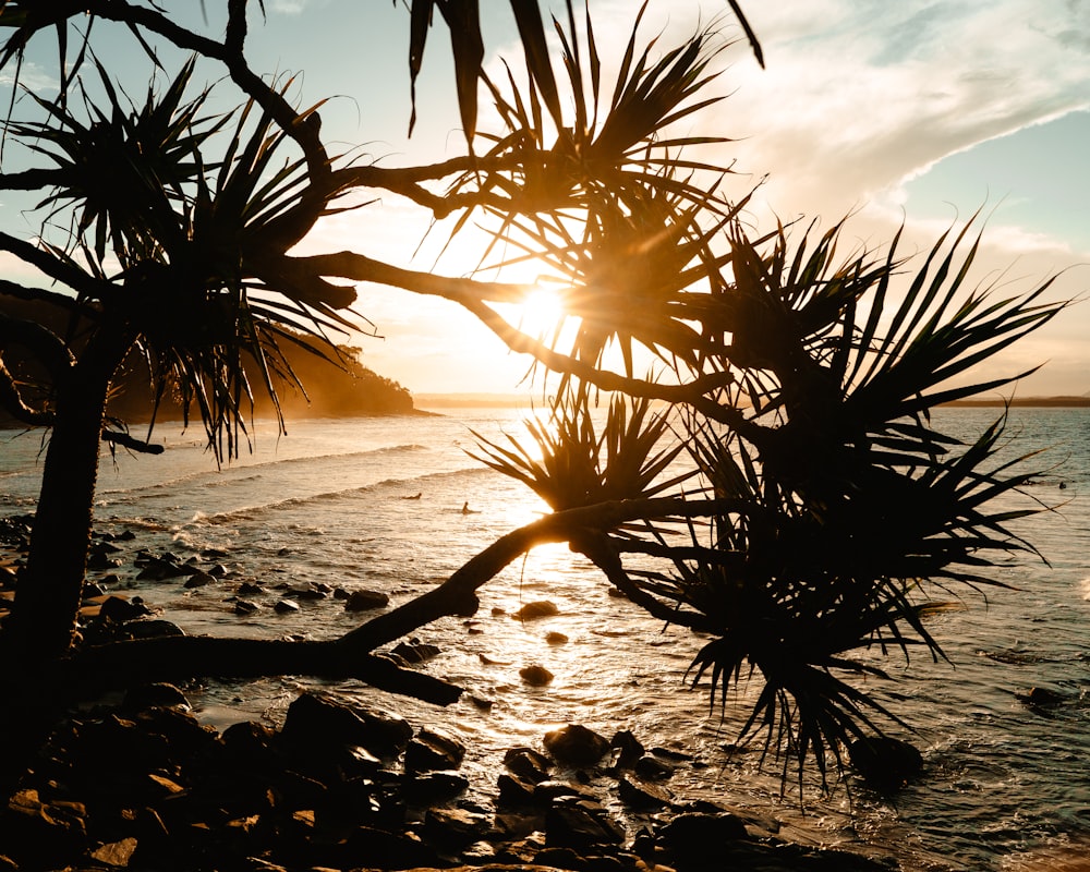
[[[88,102],[81,121],[64,95],[35,97],[44,120],[9,125],[53,165],[52,189],[39,204],[49,209],[46,220],[71,207],[68,247],[46,244],[33,256],[75,293],[74,306],[56,292],[34,295],[73,307],[77,337],[52,337],[56,356],[66,360],[49,373],[51,437],[10,628],[34,655],[56,656],[72,642],[97,446],[121,365],[138,355],[156,407],[166,390],[179,390],[222,459],[238,451],[252,411],[244,360],[256,362],[275,401],[277,382],[293,380],[280,342],[311,337],[315,353],[335,355],[325,330],[349,324],[341,312],[350,289],[292,276],[267,247],[277,222],[298,206],[301,161],[276,165],[286,137],[270,132],[267,114],[254,119],[252,104],[234,119],[222,159],[209,161],[209,140],[232,119],[201,114],[207,89],[184,99],[193,66],[126,109],[96,62],[106,107]]]

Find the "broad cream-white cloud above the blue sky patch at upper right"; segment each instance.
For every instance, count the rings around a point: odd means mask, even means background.
[[[762,197],[777,210],[843,213],[1088,105],[1090,63],[1064,37],[1078,10],[825,2],[800,22],[800,5],[752,9],[767,66],[735,60],[735,93],[705,124],[744,137],[731,152],[754,178],[771,174]]]

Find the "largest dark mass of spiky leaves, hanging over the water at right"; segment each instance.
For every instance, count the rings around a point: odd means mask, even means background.
[[[943,385],[1064,306],[1039,302],[1047,282],[998,303],[966,292],[967,231],[948,251],[941,238],[898,299],[896,244],[884,259],[838,264],[839,229],[813,246],[804,234],[792,251],[780,228],[767,254],[732,238],[735,282],[716,304],[760,425],[724,433],[694,413],[686,429],[714,497],[748,508],[713,514],[707,541],[691,526],[675,573],[633,573],[647,593],[719,623],[694,680],[710,677],[722,702],[759,673],[743,735],[763,735],[766,751],[800,770],[812,760],[823,783],[843,743],[880,731],[875,715],[899,723],[848,680],[880,674],[852,652],[942,656],[924,617],[947,603],[929,601],[921,582],[956,597],[997,584],[988,570],[1012,552],[1037,554],[1009,523],[1040,506],[997,508],[1038,472],[1029,458],[998,460],[1005,419],[962,446],[927,412],[1010,380]]]

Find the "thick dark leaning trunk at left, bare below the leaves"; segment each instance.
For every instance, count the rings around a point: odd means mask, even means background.
[[[11,632],[9,652],[23,661],[23,668],[58,657],[72,645],[83,602],[106,398],[130,344],[123,329],[100,329],[57,379],[31,547],[5,628]]]

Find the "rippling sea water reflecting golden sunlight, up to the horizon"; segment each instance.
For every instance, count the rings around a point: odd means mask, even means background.
[[[325,597],[281,614],[278,591],[370,589],[397,605],[432,589],[545,511],[534,494],[467,453],[470,429],[521,435],[523,413],[445,412],[292,421],[280,437],[257,422],[253,450],[222,469],[199,428],[157,427],[155,440],[167,448],[160,456],[104,449],[96,529],[136,534],[118,543],[128,550],[114,590],[144,597],[189,633],[325,639],[368,613]],[[971,438],[997,414],[940,409],[934,419]],[[0,432],[0,516],[33,511],[40,438]],[[1009,589],[990,589],[986,598],[966,590],[965,610],[932,619],[949,663],[885,662],[893,680],[871,689],[916,730],[894,735],[925,760],[922,776],[893,797],[850,778],[824,797],[808,785],[800,802],[790,783],[782,795],[775,762],[762,768],[758,751],[734,750],[752,689],[729,698],[725,711],[710,707],[706,686],[685,680],[703,640],[611,596],[601,573],[564,545],[534,552],[485,585],[472,619],[444,619],[415,634],[441,652],[421,668],[468,691],[447,708],[299,677],[207,681],[186,692],[197,716],[220,728],[241,719],[276,725],[306,688],[397,712],[465,741],[464,771],[482,798],[512,746],[540,747],[547,730],[568,723],[607,737],[629,729],[646,747],[691,755],[668,782],[676,797],[775,816],[785,838],[892,853],[906,870],[1090,869],[1078,864],[1090,853],[1090,410],[1014,409],[1008,439],[1013,452],[1046,449],[1036,464],[1043,473],[1022,499],[1050,510],[1015,529],[1047,562],[1013,560],[995,572]],[[137,548],[182,559],[219,549],[228,574],[193,589],[181,579],[137,581]],[[251,615],[237,614],[231,598],[243,581],[269,592],[249,597],[261,606]],[[557,614],[512,617],[541,600]],[[526,685],[519,670],[532,664],[553,673],[552,683]],[[1033,688],[1051,691],[1052,704],[1028,704]]]

